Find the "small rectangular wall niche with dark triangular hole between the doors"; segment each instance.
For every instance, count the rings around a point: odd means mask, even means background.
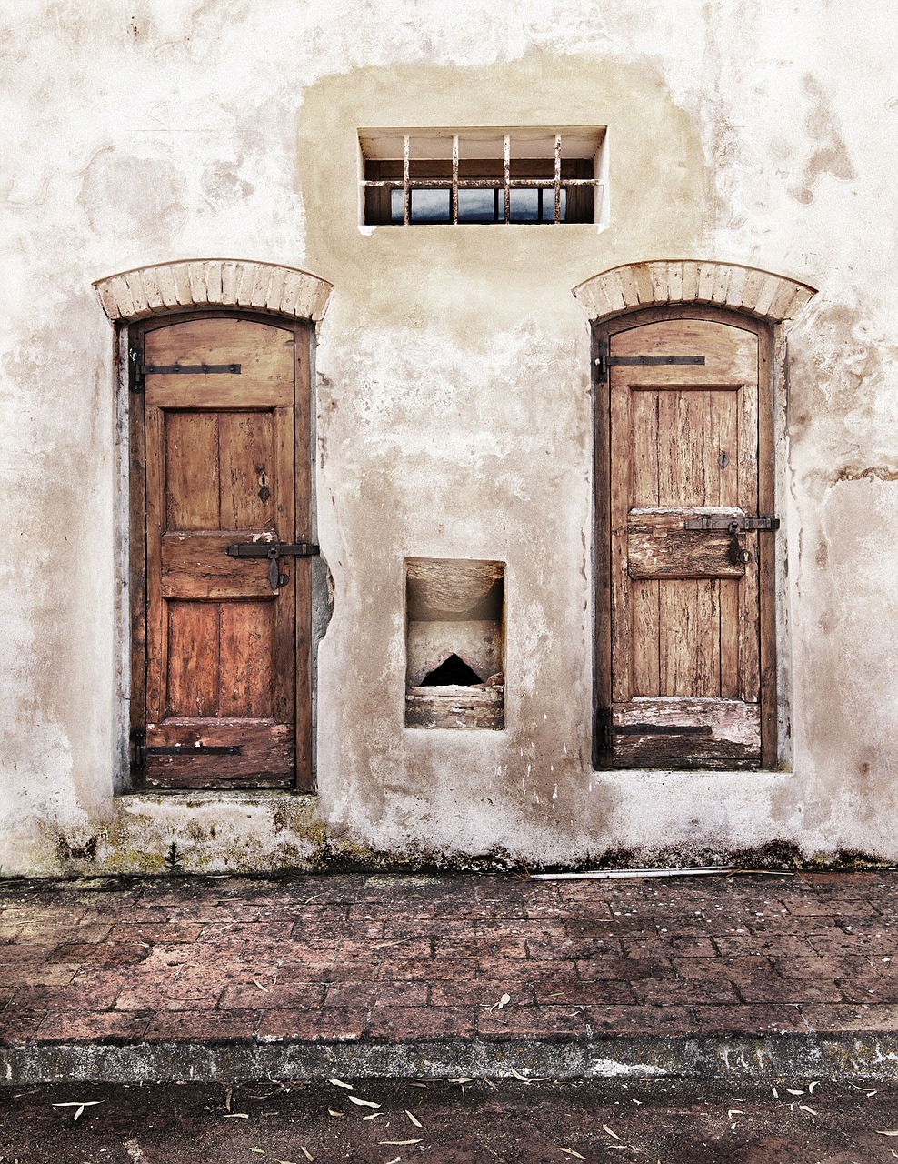
[[[406,728],[505,728],[505,563],[406,561]]]

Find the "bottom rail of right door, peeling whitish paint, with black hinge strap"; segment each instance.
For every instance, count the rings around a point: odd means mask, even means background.
[[[637,697],[612,705],[614,757],[634,768],[757,767],[760,721],[758,704],[741,700]]]

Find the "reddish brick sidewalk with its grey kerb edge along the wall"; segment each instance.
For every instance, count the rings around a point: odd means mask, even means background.
[[[870,1074],[871,1059],[891,1078],[896,902],[895,873],[3,881],[0,1070]]]

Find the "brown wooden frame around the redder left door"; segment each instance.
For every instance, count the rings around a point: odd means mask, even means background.
[[[119,463],[120,530],[119,539],[122,577],[128,580],[129,598],[122,603],[120,630],[124,640],[124,660],[121,674],[124,714],[120,733],[117,757],[116,792],[141,792],[144,789],[142,773],[135,764],[136,744],[144,729],[147,684],[147,509],[145,509],[145,459],[144,459],[144,410],[142,392],[137,386],[136,365],[143,350],[143,338],[148,332],[184,324],[195,319],[233,319],[264,324],[286,331],[294,338],[294,490],[297,494],[297,526],[308,532],[304,540],[316,541],[314,456],[315,432],[312,409],[312,367],[314,359],[314,324],[283,314],[241,307],[227,308],[218,305],[206,310],[164,311],[121,326],[119,334],[120,393],[117,430],[123,439],[127,434],[127,454],[122,450]],[[135,406],[137,403],[137,406]],[[123,443],[123,440],[122,440]],[[135,484],[138,488],[135,488]],[[305,495],[305,496],[304,496]],[[302,516],[300,516],[302,514]],[[297,622],[297,780],[294,789],[301,793],[315,792],[314,765],[314,668],[315,641],[313,639],[313,608],[315,560],[308,570],[294,570],[297,602],[302,597],[309,612],[307,624]],[[307,594],[300,595],[300,587]],[[300,709],[302,714],[300,715]],[[171,795],[177,789],[148,789],[154,794]],[[285,789],[279,789],[284,792]],[[291,789],[287,789],[291,790]],[[201,792],[191,789],[190,792]],[[233,789],[216,789],[216,794],[258,789],[235,786]]]

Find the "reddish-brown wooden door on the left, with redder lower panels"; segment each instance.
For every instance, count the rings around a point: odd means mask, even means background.
[[[135,364],[136,766],[150,787],[308,787],[311,563],[269,556],[311,534],[307,333],[151,324]]]

